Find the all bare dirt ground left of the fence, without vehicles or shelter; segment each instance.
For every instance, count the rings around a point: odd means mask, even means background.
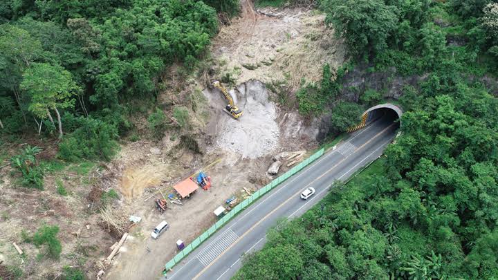
[[[324,26],[323,15],[302,9],[264,10],[264,15],[255,12],[249,0],[241,3],[242,16],[223,26],[214,39],[211,51],[218,71],[216,77],[210,77],[232,78],[232,86],[225,86],[243,111],[241,119],[223,113],[226,102],[221,94],[205,88],[195,98],[199,106],[205,106],[208,117],[190,111],[195,140],[205,147],[203,153],[185,149],[181,137],[165,132],[159,141],[124,144],[115,160],[83,174],[71,170],[50,174],[43,192],[11,187],[10,168],[1,169],[0,261],[19,265],[29,279],[56,279],[63,265],[83,268],[89,279],[96,279],[102,259],[120,234],[105,229],[98,206],[93,207],[90,198],[100,199],[103,192],[116,189],[119,198],[111,203],[116,214],[124,221],[129,215],[140,216],[142,221],[129,230],[129,238],[107,267],[104,279],[155,279],[176,254],[178,239],[190,243],[214,223],[216,207],[225,205],[230,196],[243,199],[243,187],[254,190],[268,183],[271,177],[266,170],[273,156],[314,147],[317,126],[305,122],[297,112],[281,108],[276,93],[266,85],[282,82],[288,90],[285,94],[291,95],[302,79],[320,80],[323,64],[333,68],[342,64],[344,47]],[[159,105],[185,105],[192,95],[183,92],[199,89],[192,84],[202,84],[175,82],[187,86],[183,85],[181,93],[165,90],[158,98]],[[140,129],[147,129],[145,124],[147,120],[137,121]],[[154,200],[162,196],[159,190],[172,193],[178,181],[213,162],[216,164],[204,170],[212,177],[212,189],[199,189],[183,200],[182,206],[169,204],[171,209],[164,214],[155,209]],[[57,194],[58,180],[68,196]],[[163,220],[170,229],[152,240],[150,232]],[[60,227],[60,261],[39,261],[37,254],[43,248],[21,243],[22,229],[35,230],[42,223]],[[20,243],[26,255],[19,256],[11,242]]]

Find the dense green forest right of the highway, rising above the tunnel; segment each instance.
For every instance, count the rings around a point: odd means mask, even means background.
[[[402,134],[385,157],[333,185],[323,211],[270,230],[234,279],[497,279],[498,100],[482,81],[497,73],[498,4],[320,8],[357,65],[423,79],[403,88]]]

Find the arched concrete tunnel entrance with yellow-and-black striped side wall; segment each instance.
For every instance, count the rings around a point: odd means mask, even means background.
[[[373,122],[383,122],[391,124],[394,122],[396,129],[400,126],[400,118],[403,111],[394,104],[379,104],[371,107],[362,114],[361,122],[355,127],[351,127],[348,132],[357,131],[367,127]]]

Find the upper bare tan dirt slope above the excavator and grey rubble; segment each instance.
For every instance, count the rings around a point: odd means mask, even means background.
[[[236,84],[286,81],[293,90],[302,79],[320,80],[324,64],[338,68],[345,59],[344,45],[326,28],[324,15],[302,8],[248,12],[221,28],[212,52]]]

